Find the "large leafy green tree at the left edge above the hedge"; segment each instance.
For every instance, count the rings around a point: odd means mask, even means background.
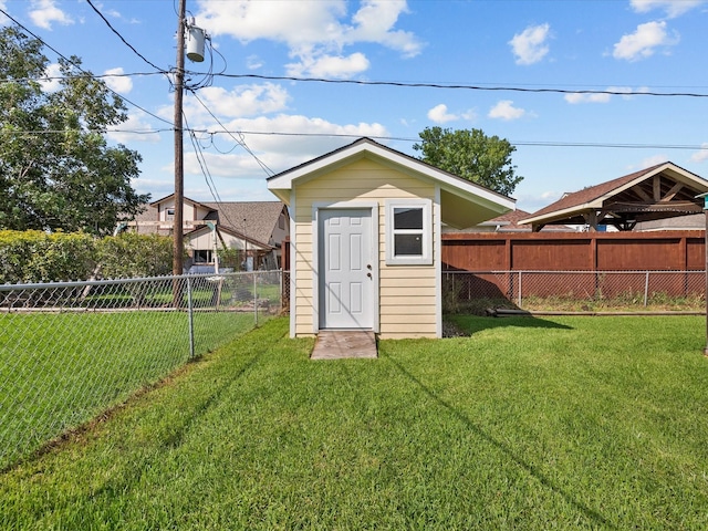
[[[105,138],[126,107],[79,58],[60,59],[53,92],[48,66],[39,40],[0,30],[0,229],[110,233],[149,199],[131,186],[140,155]]]

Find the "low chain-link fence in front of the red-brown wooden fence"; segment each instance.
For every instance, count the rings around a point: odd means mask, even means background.
[[[705,312],[705,271],[444,271],[444,310]]]

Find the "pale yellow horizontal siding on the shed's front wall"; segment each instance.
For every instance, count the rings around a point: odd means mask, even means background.
[[[377,202],[379,262],[379,335],[382,339],[435,337],[437,334],[435,266],[386,266],[386,199],[435,200],[435,186],[369,159],[361,159],[296,187],[293,212],[296,248],[295,335],[312,335],[313,267],[312,207],[316,202]],[[438,209],[433,209],[437,215]],[[437,227],[433,220],[433,227]],[[436,239],[434,238],[434,244]],[[437,250],[434,249],[434,256]],[[414,287],[414,288],[413,288]]]

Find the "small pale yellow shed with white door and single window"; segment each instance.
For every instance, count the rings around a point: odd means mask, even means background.
[[[369,138],[268,179],[290,208],[290,335],[366,330],[440,337],[441,223],[514,200]]]

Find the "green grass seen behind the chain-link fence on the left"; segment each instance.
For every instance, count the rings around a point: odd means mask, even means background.
[[[196,312],[195,354],[253,326]],[[189,360],[184,312],[0,314],[0,469]]]

